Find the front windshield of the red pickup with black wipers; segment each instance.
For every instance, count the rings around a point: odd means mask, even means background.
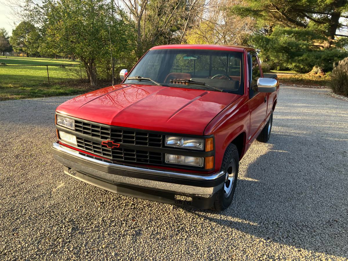
[[[243,53],[195,49],[150,50],[129,73],[125,83],[153,85],[150,80],[133,77],[151,78],[164,86],[216,88],[223,92],[244,94]]]

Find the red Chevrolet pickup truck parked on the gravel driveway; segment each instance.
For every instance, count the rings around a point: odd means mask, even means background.
[[[52,153],[64,172],[122,195],[227,208],[239,160],[270,137],[277,76],[252,48],[165,45],[120,78],[58,106]]]

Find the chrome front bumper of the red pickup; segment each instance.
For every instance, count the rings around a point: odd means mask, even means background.
[[[86,156],[84,153],[71,150],[58,143],[53,143],[51,150],[53,157],[66,166],[64,168],[66,174],[116,193],[118,192],[108,189],[109,186],[106,186],[105,182],[139,189],[209,198],[222,188],[225,179],[223,171],[201,175],[170,172],[136,165],[112,164],[92,156]],[[80,175],[70,174],[69,168],[76,170]]]

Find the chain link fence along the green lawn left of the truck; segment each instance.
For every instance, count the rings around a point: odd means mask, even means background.
[[[33,87],[85,81],[81,64],[0,65],[0,87]]]

